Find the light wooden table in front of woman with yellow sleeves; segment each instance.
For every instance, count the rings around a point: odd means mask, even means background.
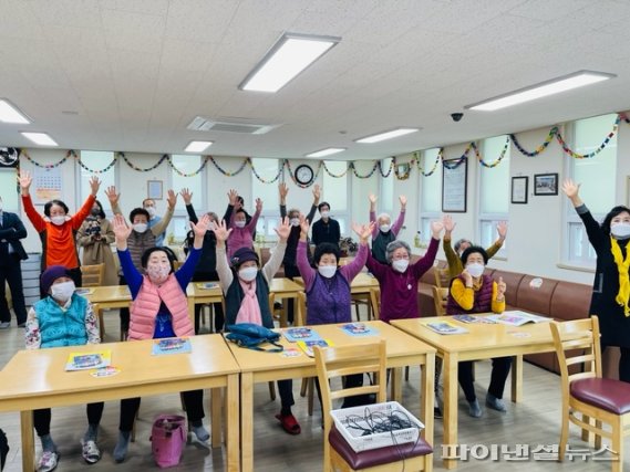
[[[468,333],[441,335],[427,328],[426,323],[448,321],[468,329]],[[457,369],[461,360],[489,359],[516,356],[512,365],[512,401],[523,398],[523,355],[555,350],[547,323],[520,327],[504,324],[459,323],[451,316],[392,319],[396,328],[434,346],[444,359],[444,444],[457,444]],[[457,462],[444,459],[446,469]]]

